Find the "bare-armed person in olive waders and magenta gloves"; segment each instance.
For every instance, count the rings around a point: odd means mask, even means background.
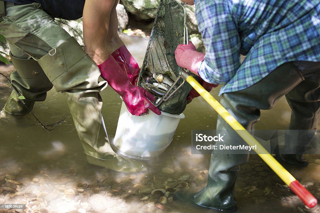
[[[12,91],[1,117],[22,116],[44,101],[52,86],[68,94],[68,106],[88,162],[119,172],[145,167],[121,158],[110,147],[100,92],[110,85],[133,115],[161,112],[153,95],[135,86],[139,67],[117,34],[116,0],[0,1],[1,34],[10,45],[15,71]],[[54,18],[83,16],[84,50]],[[98,81],[99,76],[105,81]],[[24,104],[18,96],[26,99]],[[149,99],[149,100],[148,100]]]

